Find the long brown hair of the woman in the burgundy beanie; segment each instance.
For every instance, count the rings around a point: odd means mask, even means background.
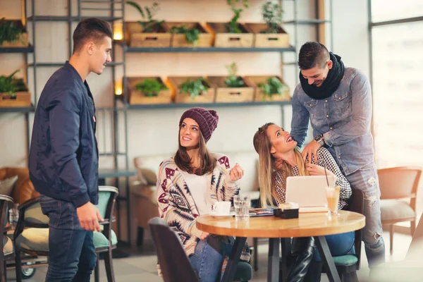
[[[176,166],[178,166],[181,170],[197,174],[197,176],[202,176],[213,172],[217,160],[207,149],[206,140],[204,140],[201,130],[198,130],[198,133],[200,136],[198,148],[198,154],[200,155],[200,167],[195,168],[192,166],[191,158],[187,149],[180,145],[180,127],[178,133],[178,151],[176,151],[173,160],[175,161]]]

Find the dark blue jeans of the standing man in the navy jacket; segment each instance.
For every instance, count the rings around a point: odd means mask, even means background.
[[[80,226],[71,202],[40,196],[42,213],[49,216],[49,269],[46,282],[89,282],[97,262],[92,231]]]

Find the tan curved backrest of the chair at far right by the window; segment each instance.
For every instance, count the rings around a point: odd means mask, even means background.
[[[399,166],[377,171],[381,188],[381,200],[415,198],[422,168]]]

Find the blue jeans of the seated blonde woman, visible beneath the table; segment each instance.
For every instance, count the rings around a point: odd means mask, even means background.
[[[355,254],[354,250],[354,238],[355,233],[353,231],[341,234],[327,235],[324,236],[328,243],[329,250],[331,251],[332,257],[338,257],[341,255]],[[321,262],[319,250],[316,249],[314,252],[314,261]]]

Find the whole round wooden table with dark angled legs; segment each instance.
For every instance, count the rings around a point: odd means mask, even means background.
[[[339,211],[338,216],[326,213],[303,213],[298,219],[279,219],[275,216],[250,217],[247,221],[236,221],[234,217],[197,217],[197,228],[216,235],[235,236],[235,244],[229,258],[223,281],[232,281],[236,264],[247,237],[269,238],[268,281],[278,281],[279,238],[311,237],[316,240],[321,259],[328,269],[330,281],[341,281],[336,271],[325,235],[356,231],[364,227],[365,217],[355,212]]]

